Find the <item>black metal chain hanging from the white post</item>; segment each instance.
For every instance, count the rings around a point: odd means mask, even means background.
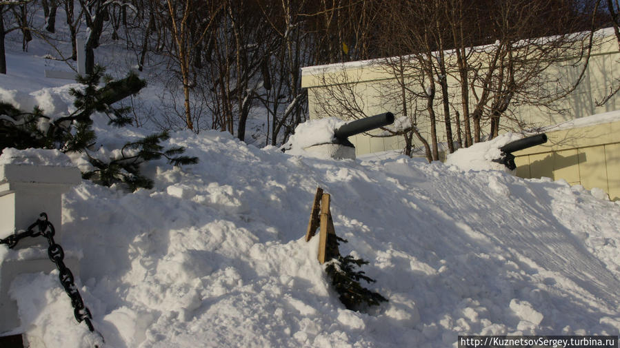
[[[48,221],[48,214],[41,213],[40,217],[34,222],[32,225],[28,227],[28,230],[25,232],[19,232],[16,234],[12,234],[6,238],[0,239],[0,244],[6,244],[10,249],[15,247],[19,240],[26,237],[38,237],[43,236],[48,240],[48,256],[50,260],[56,265],[56,268],[59,271],[58,278],[62,287],[65,289],[67,295],[71,299],[71,305],[73,306],[73,315],[78,323],[84,322],[88,329],[91,332],[97,332],[94,330],[92,326],[92,316],[90,314],[90,310],[84,305],[84,301],[82,300],[82,296],[80,296],[79,291],[74,283],[73,274],[70,269],[64,263],[65,252],[63,248],[54,242],[54,234],[56,230],[54,229],[54,225]],[[99,332],[97,332],[99,334]],[[99,334],[101,336],[101,334]]]

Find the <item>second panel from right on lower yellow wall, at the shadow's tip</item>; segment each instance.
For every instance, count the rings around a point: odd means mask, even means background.
[[[579,174],[586,189],[598,187],[608,192],[603,145],[579,149]]]

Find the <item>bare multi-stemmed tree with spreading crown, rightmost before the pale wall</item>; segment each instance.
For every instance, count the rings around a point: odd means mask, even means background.
[[[590,14],[578,12],[577,6],[561,0],[505,1],[488,10],[492,26],[480,32],[488,33],[494,43],[481,46],[479,52],[485,54],[476,54],[476,59],[472,55],[469,64],[487,68],[486,73],[474,70],[468,81],[475,101],[474,141],[481,140],[483,121],[488,122],[491,138],[501,127],[530,127],[526,119],[514,113],[521,105],[552,113],[566,111],[554,101],[567,96],[581,82],[592,49]],[[577,63],[574,57],[579,57]],[[583,68],[577,81],[566,81],[553,68],[579,63]]]

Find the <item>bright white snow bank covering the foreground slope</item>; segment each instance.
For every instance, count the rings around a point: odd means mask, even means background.
[[[36,57],[9,59],[3,98],[70,108],[55,88],[66,81],[43,79]],[[105,121],[95,123],[104,148],[150,134]],[[404,156],[292,156],[220,132],[176,132],[167,145],[199,164],[149,163],[152,190],[83,181],[63,198],[63,247],[82,255],[77,283],[102,347],[435,348],[456,347],[458,335],[619,334],[620,204],[583,187]],[[303,240],[317,186],[349,240],[341,252],[370,261],[368,287],[388,303],[339,303],[317,238]],[[97,341],[55,272],[19,276],[11,294],[32,340]]]

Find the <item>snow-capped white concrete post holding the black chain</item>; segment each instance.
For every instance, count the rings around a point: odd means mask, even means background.
[[[52,163],[62,165],[41,161],[41,154],[51,154],[55,160],[61,158],[62,161]],[[10,149],[10,152],[3,152],[0,158],[0,238],[28,229],[41,212],[46,212],[56,232],[54,241],[61,244],[62,194],[81,182],[77,167],[69,165],[68,157],[56,150]],[[22,273],[50,272],[55,268],[48,259],[46,244],[43,237],[27,237],[20,240],[14,249],[0,245],[6,249],[0,251],[0,336],[21,325],[17,303],[8,295],[14,277]],[[35,252],[30,249],[35,249]],[[72,271],[77,274],[77,269]]]

